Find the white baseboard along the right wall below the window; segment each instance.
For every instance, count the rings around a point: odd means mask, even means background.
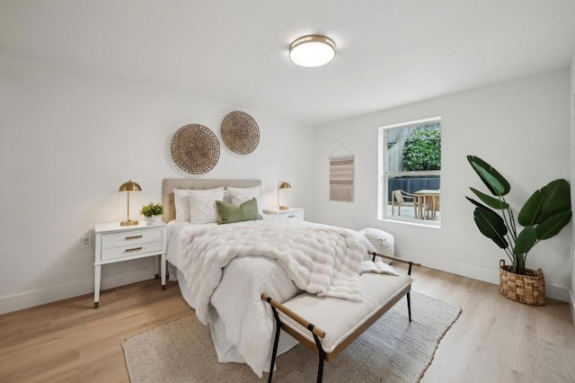
[[[431,269],[440,270],[442,272],[451,272],[456,275],[462,275],[467,278],[473,278],[474,280],[484,281],[494,285],[500,284],[500,273],[498,269],[499,266],[497,265],[491,270],[470,266],[464,263],[451,262],[445,259],[432,258],[426,255],[414,254],[411,252],[396,251],[395,254],[401,258],[419,262],[423,266],[429,267]],[[562,302],[571,302],[572,307],[573,299],[570,297],[570,291],[566,287],[545,282],[545,296],[548,298],[561,300]]]

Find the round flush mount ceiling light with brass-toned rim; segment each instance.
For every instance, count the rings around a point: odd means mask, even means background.
[[[335,57],[335,43],[325,36],[300,37],[289,46],[289,59],[300,67],[321,67]]]

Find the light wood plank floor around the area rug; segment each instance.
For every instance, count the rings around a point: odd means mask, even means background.
[[[521,305],[424,267],[414,276],[414,290],[463,308],[422,382],[575,382],[567,304]],[[177,285],[162,291],[157,280],[102,291],[100,305],[88,295],[0,316],[0,382],[126,382],[120,343],[193,313]]]

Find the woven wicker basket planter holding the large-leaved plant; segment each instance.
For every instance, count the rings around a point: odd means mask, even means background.
[[[526,275],[511,272],[513,266],[507,266],[500,260],[500,293],[503,297],[532,306],[545,305],[545,276],[541,269],[526,269]]]

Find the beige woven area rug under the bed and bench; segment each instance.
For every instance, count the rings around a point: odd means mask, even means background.
[[[461,308],[411,292],[411,323],[405,297],[367,329],[335,361],[325,363],[324,382],[417,382]],[[145,382],[261,382],[244,364],[219,363],[209,329],[186,316],[122,343],[128,375]],[[273,380],[312,382],[317,356],[302,345],[279,355]]]

